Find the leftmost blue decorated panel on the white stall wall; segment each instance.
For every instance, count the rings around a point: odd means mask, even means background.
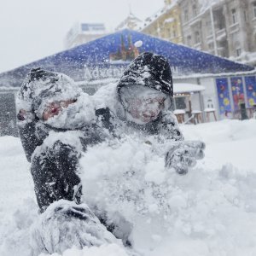
[[[218,106],[221,118],[229,118],[231,113],[228,79],[216,79]]]

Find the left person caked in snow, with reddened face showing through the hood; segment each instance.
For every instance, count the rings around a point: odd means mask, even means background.
[[[21,85],[16,105],[20,140],[44,212],[32,229],[34,255],[115,241],[90,208],[79,204],[81,152],[108,136],[96,122],[90,96],[67,75],[36,68]]]

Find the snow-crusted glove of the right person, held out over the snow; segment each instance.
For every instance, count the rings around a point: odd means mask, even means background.
[[[166,154],[166,167],[173,168],[178,174],[184,175],[196,160],[204,158],[205,143],[200,141],[175,142]]]

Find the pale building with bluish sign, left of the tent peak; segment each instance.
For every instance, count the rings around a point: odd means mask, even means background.
[[[65,48],[70,49],[106,35],[107,31],[102,23],[77,23],[67,32]]]

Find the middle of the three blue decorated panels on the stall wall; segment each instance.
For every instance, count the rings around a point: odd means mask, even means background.
[[[231,90],[234,102],[234,110],[235,112],[240,109],[240,103],[244,103],[244,91],[242,87],[242,79],[241,78],[231,78]]]

